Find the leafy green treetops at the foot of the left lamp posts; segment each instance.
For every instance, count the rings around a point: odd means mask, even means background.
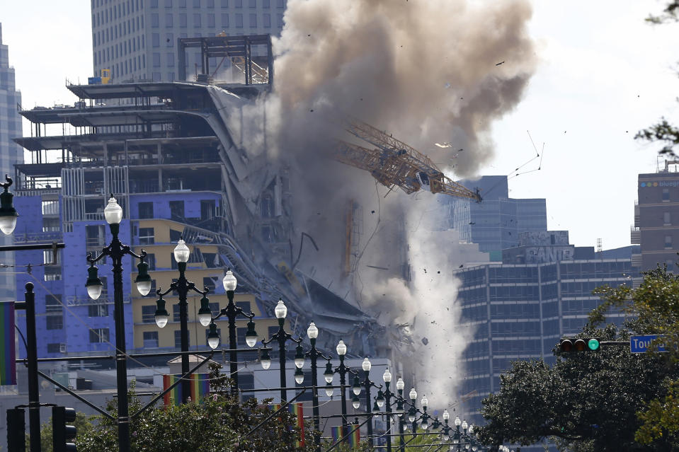
[[[201,403],[152,407],[132,419],[130,432],[133,452],[244,452],[244,451],[312,451],[313,435],[307,431],[306,446],[297,448],[299,429],[293,416],[282,411],[273,413],[255,399],[239,402],[228,391],[227,378],[220,376],[219,365],[211,369],[213,394]],[[142,402],[134,388],[130,391],[130,413],[138,412]],[[108,412],[115,417],[115,402]],[[258,424],[263,424],[254,429]],[[254,431],[253,431],[254,429]],[[105,417],[98,425],[78,436],[79,452],[118,451],[118,428]]]

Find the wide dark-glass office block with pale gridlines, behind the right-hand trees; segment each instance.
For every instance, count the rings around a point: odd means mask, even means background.
[[[463,354],[466,378],[464,410],[483,423],[481,400],[500,389],[499,377],[511,361],[542,358],[554,363],[552,349],[564,335],[587,322],[600,299],[592,291],[608,284],[632,284],[632,249],[614,250],[624,258],[595,258],[594,248],[570,245],[567,231],[526,232],[520,245],[503,250],[502,263],[473,265],[455,272],[462,286],[458,303],[462,324],[473,332]],[[623,314],[607,320],[620,324]],[[522,448],[523,450],[523,448]]]

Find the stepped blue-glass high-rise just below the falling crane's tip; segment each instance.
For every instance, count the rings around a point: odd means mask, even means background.
[[[478,187],[482,202],[469,199],[442,199],[447,204],[449,223],[460,231],[460,239],[479,244],[491,261],[502,260],[502,250],[519,244],[519,235],[528,231],[547,231],[547,207],[544,198],[509,197],[507,176],[483,176],[462,181],[465,187]]]

